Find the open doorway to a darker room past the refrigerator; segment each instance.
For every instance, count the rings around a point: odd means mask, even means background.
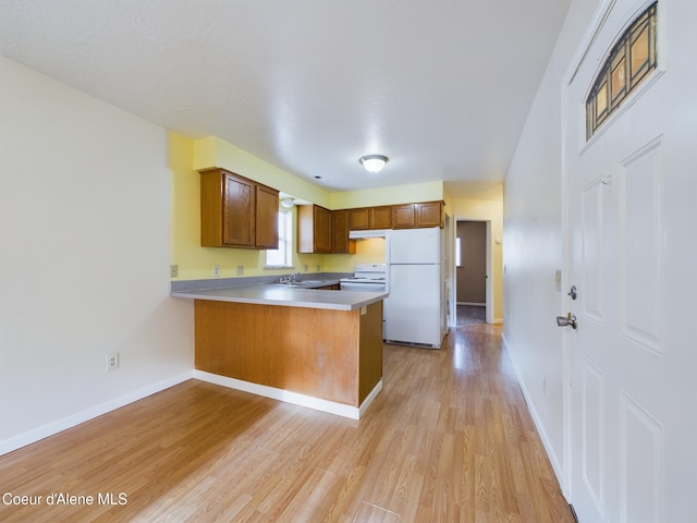
[[[456,324],[487,321],[486,221],[458,220],[455,231]]]

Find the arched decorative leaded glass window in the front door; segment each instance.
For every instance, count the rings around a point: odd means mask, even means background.
[[[586,139],[656,69],[656,5],[641,13],[612,48],[586,100]]]

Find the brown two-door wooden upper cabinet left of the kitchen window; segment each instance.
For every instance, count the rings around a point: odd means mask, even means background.
[[[204,247],[278,248],[279,193],[224,169],[200,171]]]

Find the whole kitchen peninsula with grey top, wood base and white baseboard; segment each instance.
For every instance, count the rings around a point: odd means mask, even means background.
[[[352,418],[382,389],[384,292],[256,284],[171,295],[195,302],[199,379]]]

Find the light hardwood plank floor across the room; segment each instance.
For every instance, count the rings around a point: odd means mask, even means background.
[[[383,385],[356,422],[189,380],[1,457],[42,498],[0,521],[573,523],[499,327],[386,345]]]

